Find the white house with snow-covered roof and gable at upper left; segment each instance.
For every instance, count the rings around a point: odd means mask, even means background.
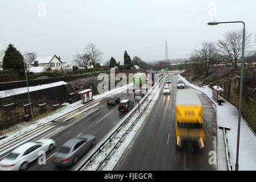
[[[38,64],[35,64],[37,61]],[[32,70],[36,71],[46,71],[48,68],[51,68],[51,70],[57,70],[61,71],[62,69],[66,69],[68,67],[68,64],[60,59],[60,56],[57,57],[56,55],[47,55],[47,56],[36,56],[36,59],[31,63],[31,66],[29,69],[31,72]],[[40,67],[39,68],[33,68],[33,67]],[[44,69],[43,69],[44,68]]]

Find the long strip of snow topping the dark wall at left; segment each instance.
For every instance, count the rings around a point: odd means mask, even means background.
[[[28,89],[30,90],[30,92],[34,92],[36,90],[42,90],[42,89],[47,89],[47,88],[60,86],[60,85],[66,85],[66,84],[67,83],[64,82],[64,81],[59,81],[59,82],[54,82],[54,83],[51,83],[51,84],[43,84],[43,85],[38,85],[38,86],[28,86]],[[15,95],[18,95],[18,94],[23,94],[23,93],[27,93],[27,87],[0,91],[0,98],[15,96]]]

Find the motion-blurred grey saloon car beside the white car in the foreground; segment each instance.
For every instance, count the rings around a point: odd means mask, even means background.
[[[96,143],[93,135],[85,134],[77,138],[72,138],[63,144],[52,156],[52,162],[56,166],[67,167],[76,164],[79,157],[84,154],[88,148]]]

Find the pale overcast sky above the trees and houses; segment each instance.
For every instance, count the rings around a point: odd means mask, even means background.
[[[113,56],[123,63],[126,50],[131,58],[144,61],[188,58],[203,41],[216,42],[225,31],[241,23],[208,26],[216,21],[241,20],[255,47],[255,0],[0,0],[0,51],[14,44],[21,53],[56,55],[72,61],[88,43],[103,53],[101,63]]]

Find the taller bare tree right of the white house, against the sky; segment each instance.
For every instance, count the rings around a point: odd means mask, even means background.
[[[89,43],[85,47],[85,53],[90,56],[90,63],[92,63],[93,68],[95,68],[96,63],[101,60],[102,52],[96,47],[96,45]]]

